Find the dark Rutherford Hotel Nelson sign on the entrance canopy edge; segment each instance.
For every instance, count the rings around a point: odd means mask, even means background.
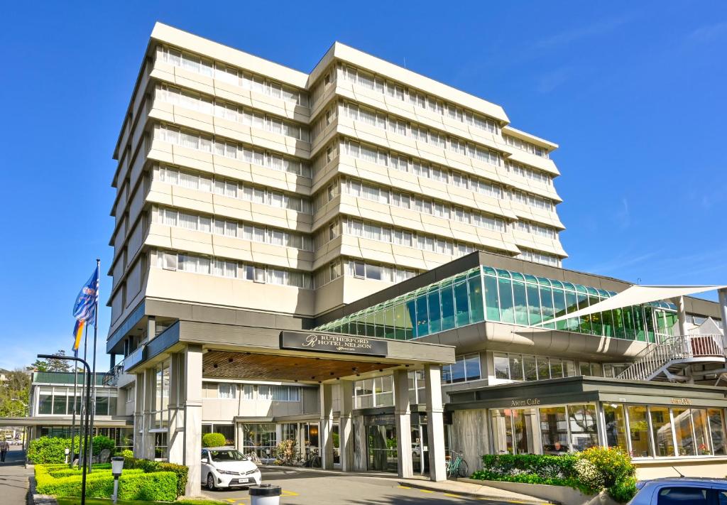
[[[375,338],[299,331],[282,331],[280,348],[366,356],[386,356],[388,352],[387,342]]]

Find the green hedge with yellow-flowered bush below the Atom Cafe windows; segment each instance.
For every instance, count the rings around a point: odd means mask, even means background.
[[[582,453],[559,456],[540,454],[486,454],[483,469],[473,479],[565,485],[585,494],[608,490],[625,503],[636,493],[635,466],[620,448],[593,447]]]

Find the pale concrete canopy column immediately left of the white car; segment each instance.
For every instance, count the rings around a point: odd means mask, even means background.
[[[184,456],[182,464],[189,468],[185,494],[196,496],[201,485],[202,453],[202,346],[190,345],[181,357],[184,360]]]

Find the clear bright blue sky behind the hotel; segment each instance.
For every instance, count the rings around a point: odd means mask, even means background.
[[[727,283],[727,2],[258,3],[4,7],[0,367],[70,349],[76,293],[108,269],[111,155],[156,20],[302,71],[335,40],[406,59],[560,144],[563,266]]]

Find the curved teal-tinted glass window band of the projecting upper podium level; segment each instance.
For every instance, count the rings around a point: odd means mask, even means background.
[[[410,340],[493,321],[654,342],[656,335],[670,334],[677,322],[676,306],[665,302],[547,322],[614,295],[595,287],[478,266],[316,330]]]

